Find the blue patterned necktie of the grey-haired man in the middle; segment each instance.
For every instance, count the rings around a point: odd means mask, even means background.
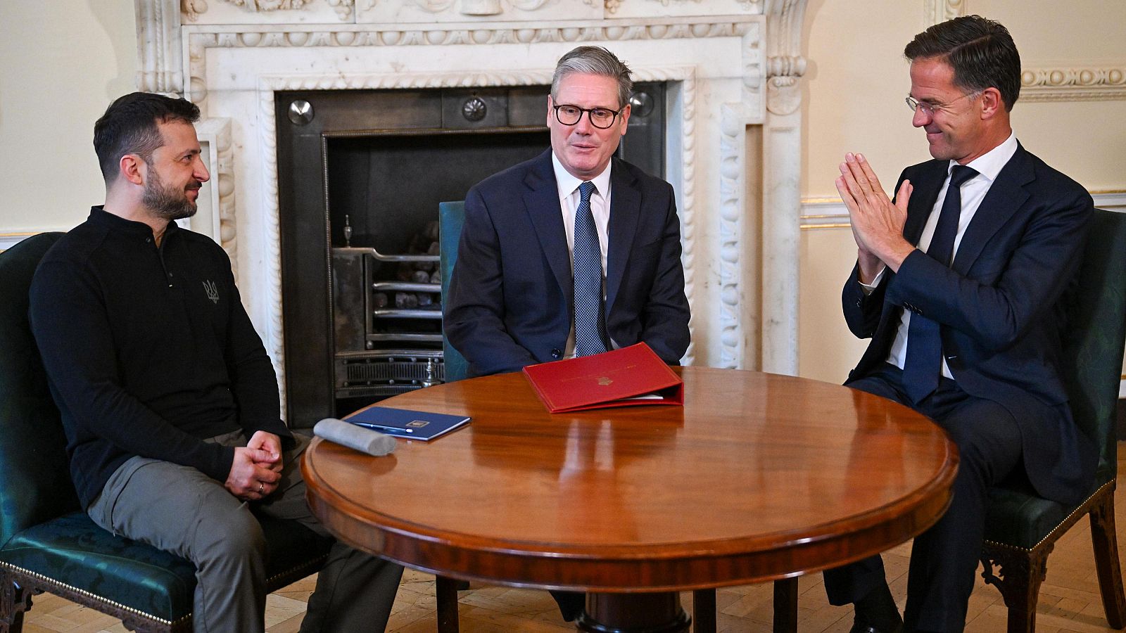
[[[593,182],[579,185],[579,208],[574,213],[574,355],[606,351],[602,342],[602,249],[590,212]]]

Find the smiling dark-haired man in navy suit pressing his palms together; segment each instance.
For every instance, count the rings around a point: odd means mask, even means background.
[[[905,169],[894,200],[864,155],[840,166],[858,246],[844,318],[872,338],[846,384],[933,419],[960,463],[950,508],[914,540],[902,619],[878,555],[825,572],[830,601],[855,605],[854,632],[962,631],[989,487],[1022,481],[1075,503],[1097,463],[1058,367],[1091,196],[1017,142],[1020,56],[1003,26],[955,18],[904,54],[935,160]]]

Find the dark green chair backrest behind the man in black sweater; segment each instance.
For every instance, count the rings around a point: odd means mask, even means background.
[[[0,253],[0,546],[79,509],[66,437],[27,320],[32,275],[60,237],[39,233]]]

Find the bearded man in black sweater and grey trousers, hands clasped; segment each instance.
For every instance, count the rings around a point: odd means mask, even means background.
[[[226,253],[175,221],[209,175],[184,100],[134,92],[93,144],[106,204],[44,257],[30,318],[66,431],[71,476],[104,528],[190,560],[196,631],[262,631],[266,543],[253,512],[327,534],[305,502],[307,439]],[[302,631],[383,631],[402,568],[333,545]]]

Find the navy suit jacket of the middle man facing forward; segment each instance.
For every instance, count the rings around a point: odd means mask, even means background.
[[[672,187],[614,160],[606,331],[645,341],[664,362],[688,349],[688,300]],[[444,328],[470,375],[563,357],[573,322],[571,256],[552,152],[475,185],[465,197]]]

